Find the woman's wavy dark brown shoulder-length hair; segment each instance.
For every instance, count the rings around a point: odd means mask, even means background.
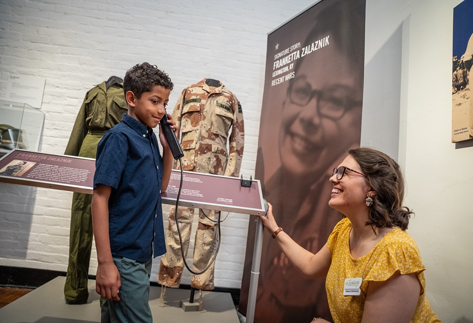
[[[367,226],[406,230],[409,218],[414,214],[402,206],[404,177],[399,164],[384,153],[371,148],[357,148],[348,152],[361,167],[366,182],[376,192],[369,207]]]

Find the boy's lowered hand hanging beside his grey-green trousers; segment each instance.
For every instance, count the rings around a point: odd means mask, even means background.
[[[112,261],[107,264],[99,264],[95,281],[96,292],[108,300],[119,301],[120,287],[120,274],[115,263]]]

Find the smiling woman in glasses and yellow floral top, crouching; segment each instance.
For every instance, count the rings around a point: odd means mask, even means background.
[[[399,165],[376,150],[353,149],[330,182],[329,206],[345,218],[316,254],[278,228],[271,205],[260,218],[298,270],[326,278],[334,322],[440,322],[425,297],[419,249],[405,232],[412,212],[402,206]]]

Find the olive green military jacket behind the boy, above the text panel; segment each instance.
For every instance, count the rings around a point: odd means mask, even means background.
[[[128,111],[123,83],[107,82],[92,87],[87,91],[82,106],[77,113],[71,137],[67,143],[65,155],[78,156],[85,136],[89,132],[105,132],[121,122],[123,113]]]

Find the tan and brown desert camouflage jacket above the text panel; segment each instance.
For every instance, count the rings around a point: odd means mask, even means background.
[[[209,86],[206,81],[220,85]],[[243,113],[235,94],[224,84],[204,79],[186,87],[172,117],[180,129],[184,170],[238,176],[244,146]]]

